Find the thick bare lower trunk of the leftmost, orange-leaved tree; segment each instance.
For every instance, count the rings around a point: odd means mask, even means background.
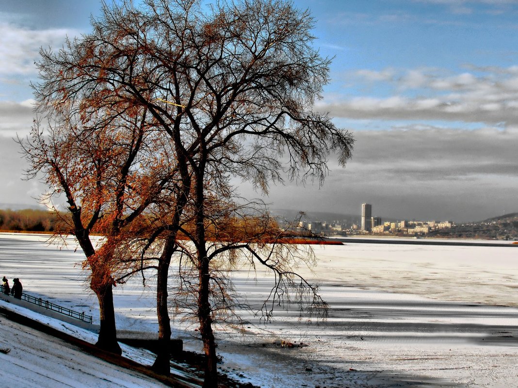
[[[115,311],[113,308],[112,285],[108,284],[95,287],[95,294],[99,300],[100,329],[99,338],[95,346],[111,353],[122,354],[122,349],[117,342],[117,327],[115,324]]]

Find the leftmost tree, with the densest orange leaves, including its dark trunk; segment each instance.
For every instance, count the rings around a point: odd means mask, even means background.
[[[152,139],[145,109],[132,108],[108,120],[80,117],[70,101],[57,108],[40,105],[31,135],[18,139],[30,162],[29,177],[49,186],[45,201],[57,197],[68,204],[68,232],[77,238],[90,271],[90,287],[99,301],[97,345],[120,353],[117,343],[112,287],[140,271],[131,249],[121,249],[130,236],[146,229],[143,212],[160,199],[174,170],[164,163],[164,144]],[[92,233],[102,240],[92,239]],[[143,264],[143,263],[141,263]]]

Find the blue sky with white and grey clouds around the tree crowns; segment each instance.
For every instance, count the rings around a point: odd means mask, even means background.
[[[518,0],[294,0],[333,56],[316,107],[356,139],[324,186],[286,183],[276,208],[456,222],[518,212]],[[35,205],[13,136],[32,123],[39,47],[90,31],[98,0],[2,0],[0,205]],[[255,196],[243,185],[241,192]]]

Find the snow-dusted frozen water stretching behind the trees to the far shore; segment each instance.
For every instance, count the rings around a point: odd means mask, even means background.
[[[81,252],[46,238],[0,234],[0,276],[19,277],[25,292],[96,323],[95,296],[74,266]],[[322,284],[327,322],[308,326],[279,310],[265,325],[243,312],[243,331],[218,331],[223,371],[265,388],[517,385],[518,247],[350,243],[315,251],[314,272],[299,271]],[[262,273],[254,280],[236,271],[235,279],[251,304],[268,287]],[[116,289],[119,329],[157,331],[153,292],[138,278]],[[195,324],[174,325],[186,349],[200,349]],[[281,348],[281,340],[304,346]],[[4,368],[0,376],[9,382]]]

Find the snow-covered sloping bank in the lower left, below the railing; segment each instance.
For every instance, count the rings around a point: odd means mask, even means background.
[[[2,307],[45,325],[95,342],[96,336],[73,325],[34,314],[1,302]],[[166,385],[136,371],[110,364],[80,351],[77,346],[0,316],[0,379],[12,388],[165,388]],[[152,354],[122,345],[123,355],[147,363]]]

